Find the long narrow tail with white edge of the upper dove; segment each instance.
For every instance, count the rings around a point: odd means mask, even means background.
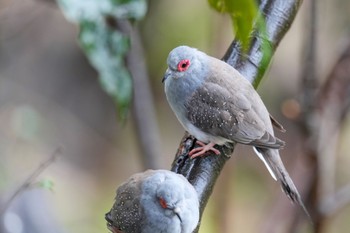
[[[271,176],[280,182],[284,193],[292,200],[292,202],[298,203],[308,218],[311,220],[310,214],[307,211],[297,188],[295,187],[292,179],[290,178],[286,168],[282,163],[278,150],[254,147],[254,151],[264,162]]]

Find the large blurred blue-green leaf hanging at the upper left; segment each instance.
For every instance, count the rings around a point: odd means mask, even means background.
[[[131,75],[125,67],[129,38],[115,26],[118,19],[142,19],[146,0],[58,0],[66,18],[79,25],[79,42],[99,73],[103,90],[125,120],[132,96]],[[111,23],[112,22],[112,23]]]

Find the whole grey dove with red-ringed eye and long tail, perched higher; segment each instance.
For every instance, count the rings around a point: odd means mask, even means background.
[[[308,215],[279,155],[285,143],[274,136],[272,125],[285,130],[270,116],[251,83],[227,63],[188,46],[173,49],[167,63],[162,81],[169,105],[200,145],[189,155],[220,154],[216,144],[252,145],[271,176]]]

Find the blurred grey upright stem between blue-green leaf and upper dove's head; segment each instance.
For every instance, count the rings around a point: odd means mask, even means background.
[[[132,108],[137,141],[142,151],[142,164],[146,169],[157,169],[162,164],[160,136],[140,35],[138,28],[132,28],[128,21],[120,20],[118,26],[129,34],[131,39],[131,49],[127,54],[127,66],[133,79]]]

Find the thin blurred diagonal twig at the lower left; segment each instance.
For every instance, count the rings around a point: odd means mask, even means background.
[[[35,181],[35,179],[47,168],[49,167],[58,157],[58,155],[60,155],[62,153],[62,147],[58,147],[56,148],[51,156],[49,158],[47,158],[46,160],[44,160],[41,164],[39,164],[39,166],[34,170],[34,172],[32,174],[30,174],[27,179],[22,183],[21,186],[19,186],[17,188],[17,190],[12,194],[12,196],[9,198],[9,200],[7,202],[5,202],[3,208],[0,209],[0,216],[3,215],[6,210],[10,207],[10,205],[12,204],[12,202],[21,194],[23,193],[25,190],[27,190]]]

